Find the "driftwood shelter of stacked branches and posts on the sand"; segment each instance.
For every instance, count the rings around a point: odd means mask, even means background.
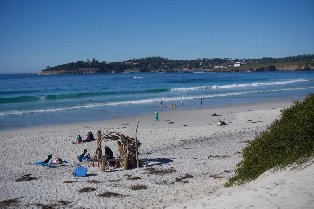
[[[139,122],[140,118],[138,118]],[[105,163],[108,161],[117,161],[115,167],[121,167],[125,170],[129,168],[140,167],[143,163],[138,159],[138,147],[142,143],[138,142],[137,133],[138,123],[135,131],[135,138],[124,136],[122,133],[115,133],[107,130],[105,134],[101,134],[101,131],[97,131],[97,147],[93,158],[93,167],[100,167],[100,171],[105,171]],[[115,159],[104,159],[101,157],[101,142],[115,140],[118,143],[120,158]],[[121,162],[121,164],[120,164]]]

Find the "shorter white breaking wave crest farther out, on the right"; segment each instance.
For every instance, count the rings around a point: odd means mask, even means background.
[[[296,83],[296,82],[304,82],[309,81],[306,79],[296,79],[291,81],[279,81],[279,82],[268,82],[268,83],[246,83],[246,84],[232,84],[232,85],[224,85],[224,86],[197,86],[197,87],[181,87],[181,88],[174,88],[171,91],[191,91],[191,90],[198,90],[198,89],[220,89],[220,88],[236,88],[236,87],[248,87],[248,86],[266,86],[266,85],[278,85],[278,84],[288,84],[288,83]]]

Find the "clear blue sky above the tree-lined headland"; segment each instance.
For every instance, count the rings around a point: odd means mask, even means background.
[[[313,0],[1,1],[0,74],[93,58],[314,54],[313,8]]]

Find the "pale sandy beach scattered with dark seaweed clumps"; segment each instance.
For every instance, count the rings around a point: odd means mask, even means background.
[[[107,129],[134,137],[138,117],[1,131],[0,201],[19,198],[19,205],[11,208],[60,205],[58,201],[61,200],[71,203],[60,208],[313,208],[313,165],[300,171],[267,172],[247,185],[223,187],[241,160],[234,153],[246,145],[243,141],[254,139],[254,131],[266,130],[267,125],[279,118],[280,109],[291,104],[289,99],[203,109],[177,108],[176,111],[159,112],[159,122],[154,121],[154,113],[139,116],[137,136],[142,143],[139,159],[146,166],[130,170],[119,168],[100,172],[99,168],[91,166],[90,161],[71,160],[84,149],[94,156],[96,148],[95,141],[86,144],[71,144],[71,141],[78,134],[84,137],[92,131],[95,137],[97,130],[104,133]],[[212,117],[214,113],[219,116]],[[229,125],[215,126],[218,119]],[[102,146],[110,147],[114,156],[118,156],[115,141],[105,141]],[[48,154],[69,163],[52,168],[25,165],[45,160]],[[75,169],[71,166],[73,161],[88,168],[86,177],[71,175]],[[152,175],[145,171],[147,167],[174,168],[176,172]],[[38,179],[14,181],[29,173]],[[177,180],[186,174],[193,178]],[[127,175],[141,179],[127,180]],[[130,189],[139,184],[146,185],[147,189]],[[78,193],[84,187],[96,190]],[[121,196],[98,196],[106,191]],[[277,195],[271,196],[265,191]]]

